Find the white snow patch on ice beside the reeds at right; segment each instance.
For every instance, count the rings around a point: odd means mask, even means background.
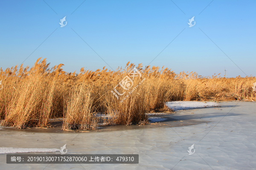
[[[166,105],[175,110],[188,110],[188,109],[195,109],[195,108],[205,108],[205,107],[213,107],[218,106],[216,102],[194,102],[194,101],[174,101],[174,102],[167,102]]]

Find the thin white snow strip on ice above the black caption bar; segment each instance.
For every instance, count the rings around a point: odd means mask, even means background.
[[[56,148],[22,148],[22,147],[0,147],[0,153],[29,153],[29,152],[55,152]]]

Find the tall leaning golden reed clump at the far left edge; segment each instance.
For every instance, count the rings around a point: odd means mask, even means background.
[[[44,59],[27,72],[22,66],[19,74],[14,71],[8,71],[5,77],[9,80],[8,88],[4,88],[1,96],[7,99],[1,105],[1,118],[3,126],[13,126],[17,128],[26,128],[29,126],[46,127],[49,116],[52,113],[52,101],[55,91],[55,85],[58,79],[58,73],[61,65],[51,73],[47,70],[49,64]],[[2,99],[2,98],[1,98]],[[3,100],[2,100],[3,103]]]

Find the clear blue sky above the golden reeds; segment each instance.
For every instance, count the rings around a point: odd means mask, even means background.
[[[0,23],[3,69],[43,57],[77,73],[130,61],[256,76],[255,0],[1,0]]]

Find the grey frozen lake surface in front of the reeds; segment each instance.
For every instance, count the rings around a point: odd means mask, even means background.
[[[215,104],[218,107],[193,108],[180,103],[186,110],[176,107],[176,113],[152,114],[161,119],[159,123],[84,133],[1,127],[0,152],[30,148],[60,154],[60,147],[67,144],[67,154],[139,154],[139,164],[6,164],[6,153],[2,153],[0,169],[255,170],[256,102]],[[195,153],[189,155],[192,144]]]

